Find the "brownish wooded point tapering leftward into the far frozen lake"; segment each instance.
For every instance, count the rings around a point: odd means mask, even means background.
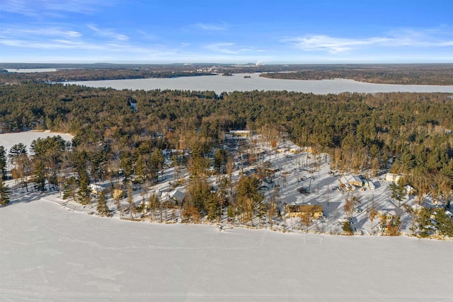
[[[403,85],[453,85],[453,64],[331,66],[292,69],[293,72],[261,74],[269,79],[324,80],[353,79],[367,83]]]

